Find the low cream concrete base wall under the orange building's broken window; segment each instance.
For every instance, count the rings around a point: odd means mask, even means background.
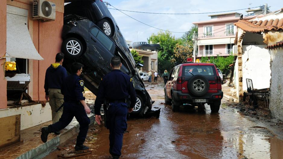
[[[37,126],[52,120],[49,103],[43,107],[41,104],[18,108],[6,108],[0,111],[0,118],[21,114],[21,130]]]

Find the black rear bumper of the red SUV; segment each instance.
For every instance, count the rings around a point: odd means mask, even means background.
[[[217,91],[217,93],[207,93],[199,97],[188,93],[182,93],[182,91],[173,90],[173,95],[174,95],[174,99],[176,99],[177,101],[186,102],[186,103],[197,103],[196,99],[206,99],[206,102],[200,102],[200,103],[213,103],[214,101],[219,101],[223,98],[222,91]],[[221,96],[221,98],[215,98],[215,96],[218,97]]]

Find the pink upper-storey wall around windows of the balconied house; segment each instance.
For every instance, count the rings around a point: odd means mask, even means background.
[[[207,26],[207,25],[213,25],[212,33],[214,34],[215,37],[225,36],[226,35],[225,34],[226,24],[231,24],[231,23],[234,23],[234,22],[235,21],[224,21],[224,22],[216,22],[216,23],[198,24],[199,37],[203,36],[203,28],[204,28],[204,26]],[[234,32],[236,32],[236,31],[237,31],[237,29],[234,30]]]

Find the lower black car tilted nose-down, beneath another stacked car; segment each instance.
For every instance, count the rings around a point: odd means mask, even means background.
[[[97,94],[101,78],[111,71],[111,57],[119,56],[121,71],[131,76],[137,94],[137,103],[131,114],[142,116],[151,110],[153,102],[136,68],[141,64],[136,65],[132,54],[122,51],[97,25],[84,17],[69,14],[64,17],[62,38],[63,66],[69,71],[73,62],[84,64],[81,78],[92,93]]]

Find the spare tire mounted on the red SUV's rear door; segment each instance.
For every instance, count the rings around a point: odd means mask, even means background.
[[[189,79],[188,89],[195,96],[205,95],[209,89],[208,79],[203,75],[194,75]]]

